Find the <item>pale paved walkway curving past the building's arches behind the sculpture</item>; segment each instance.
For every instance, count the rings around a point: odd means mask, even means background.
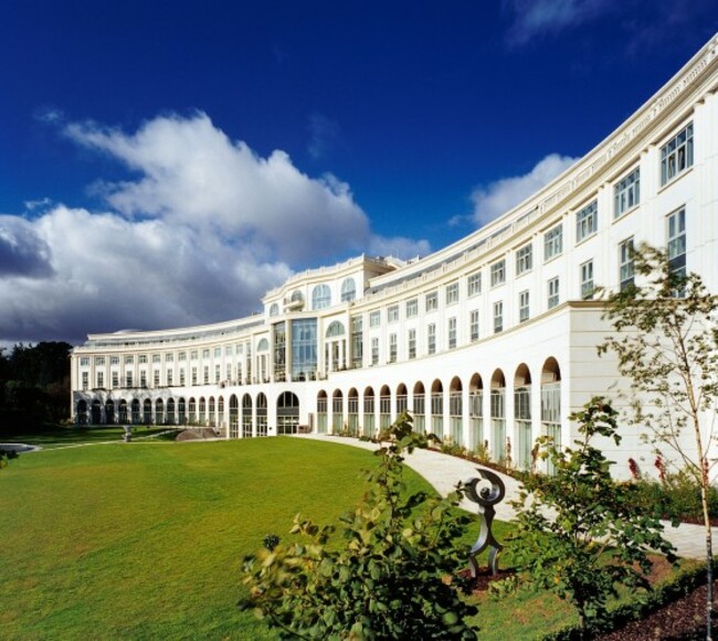
[[[324,440],[337,445],[353,446],[367,450],[376,450],[377,444],[362,441],[356,438],[336,437],[318,434],[297,435],[296,438],[308,438]],[[451,492],[458,481],[466,481],[476,477],[476,470],[483,466],[452,457],[442,452],[425,449],[415,449],[413,453],[408,455],[405,463],[415,472],[426,479],[442,495],[445,496]],[[497,473],[506,485],[506,498],[496,506],[496,517],[500,521],[510,521],[515,511],[508,502],[516,498],[520,483],[513,477]],[[476,513],[477,505],[464,499],[462,508],[468,512]],[[704,559],[706,556],[706,535],[703,525],[691,525],[683,523],[678,527],[672,527],[669,522],[664,522],[664,536],[676,546],[678,556],[685,558]],[[718,527],[712,528],[714,542],[718,541]]]

